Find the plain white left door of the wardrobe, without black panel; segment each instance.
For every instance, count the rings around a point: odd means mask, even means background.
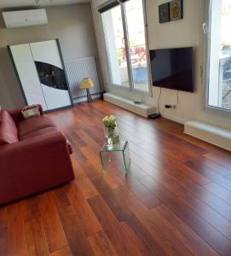
[[[26,103],[28,105],[41,104],[43,110],[47,110],[48,108],[38,79],[37,69],[32,58],[30,44],[14,45],[9,46],[9,48],[20,78],[22,90],[26,97]]]

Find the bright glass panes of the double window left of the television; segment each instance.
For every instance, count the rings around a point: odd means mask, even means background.
[[[101,11],[111,83],[149,91],[142,0],[115,2]]]

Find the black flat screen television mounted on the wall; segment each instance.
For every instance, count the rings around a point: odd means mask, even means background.
[[[193,92],[193,48],[152,49],[153,86]]]

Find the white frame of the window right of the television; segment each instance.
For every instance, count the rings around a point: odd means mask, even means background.
[[[231,113],[231,109],[228,108],[220,108],[216,106],[211,106],[209,104],[209,90],[210,90],[210,64],[211,64],[211,13],[212,13],[212,1],[205,1],[205,10],[204,16],[205,19],[202,21],[202,28],[204,30],[204,50],[205,50],[205,60],[204,65],[201,67],[201,76],[203,82],[205,84],[205,95],[203,95],[204,99],[204,108],[212,111],[217,111],[217,113]],[[203,75],[204,74],[204,75]]]

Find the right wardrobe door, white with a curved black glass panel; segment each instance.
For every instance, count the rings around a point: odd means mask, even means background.
[[[56,40],[30,44],[48,109],[72,105]]]

